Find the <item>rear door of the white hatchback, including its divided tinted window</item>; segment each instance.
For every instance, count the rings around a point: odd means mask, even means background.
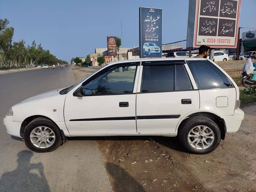
[[[137,88],[139,133],[171,133],[185,114],[199,109],[199,91],[184,60],[142,61]],[[186,68],[185,68],[186,67]],[[190,73],[191,74],[191,73]]]

